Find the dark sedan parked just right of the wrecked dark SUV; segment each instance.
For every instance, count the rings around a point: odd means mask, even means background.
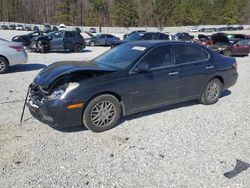
[[[111,46],[114,42],[119,41],[120,38],[110,34],[99,34],[86,38],[85,42],[88,46]]]

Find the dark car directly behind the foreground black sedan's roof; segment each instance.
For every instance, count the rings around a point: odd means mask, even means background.
[[[168,34],[160,32],[134,32],[128,35],[125,40],[113,42],[111,47],[113,48],[123,43],[142,40],[170,40],[170,36]]]

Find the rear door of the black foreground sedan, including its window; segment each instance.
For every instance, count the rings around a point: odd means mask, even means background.
[[[215,73],[215,64],[210,54],[204,48],[191,43],[176,44],[175,52],[179,64],[180,98],[199,97],[208,78]]]

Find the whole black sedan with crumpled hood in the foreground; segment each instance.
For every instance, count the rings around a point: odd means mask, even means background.
[[[89,62],[48,66],[31,84],[27,104],[33,117],[53,127],[82,124],[102,132],[122,116],[164,105],[214,104],[237,78],[235,58],[201,45],[140,41]]]

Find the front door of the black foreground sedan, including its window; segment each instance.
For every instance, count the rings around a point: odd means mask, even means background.
[[[150,66],[149,72],[138,72],[140,63]],[[129,108],[131,112],[171,103],[178,98],[178,67],[174,65],[172,45],[162,45],[148,52],[131,70]]]

